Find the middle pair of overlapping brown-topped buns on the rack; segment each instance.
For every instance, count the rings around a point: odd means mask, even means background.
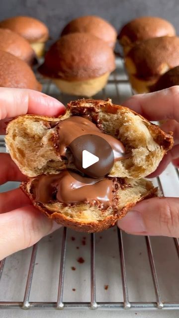
[[[93,96],[115,69],[116,36],[112,25],[100,17],[72,20],[47,52],[39,72],[64,93]]]

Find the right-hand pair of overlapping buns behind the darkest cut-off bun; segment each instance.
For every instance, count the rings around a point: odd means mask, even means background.
[[[179,37],[164,19],[134,19],[121,29],[118,39],[134,93],[154,90],[163,74],[179,66]]]

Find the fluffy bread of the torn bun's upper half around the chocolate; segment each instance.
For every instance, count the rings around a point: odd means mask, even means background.
[[[65,115],[60,118],[23,115],[12,120],[8,124],[5,137],[11,158],[29,177],[41,173],[58,173],[68,162],[58,155],[55,124],[70,116],[89,112],[93,122],[95,115],[104,132],[118,138],[130,154],[130,158],[114,163],[111,176],[134,179],[145,177],[157,168],[173,145],[171,135],[130,109],[112,105],[110,100],[104,102],[83,99],[71,102]]]

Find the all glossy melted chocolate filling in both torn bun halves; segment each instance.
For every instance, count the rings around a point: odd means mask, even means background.
[[[34,200],[43,204],[59,201],[66,206],[85,203],[97,205],[101,210],[108,207],[116,210],[116,191],[120,183],[118,178],[106,175],[115,160],[126,157],[122,143],[103,133],[89,119],[78,116],[62,120],[56,125],[53,142],[58,154],[65,156],[68,162],[73,162],[83,175],[67,169],[59,174],[38,176],[34,181]],[[87,169],[82,164],[83,150],[99,158]]]

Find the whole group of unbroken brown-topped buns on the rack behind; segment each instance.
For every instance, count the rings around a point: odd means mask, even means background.
[[[20,67],[22,60],[32,67],[37,58],[44,55],[45,43],[49,38],[47,26],[29,16],[15,16],[0,21],[0,51],[16,57],[14,70],[9,63],[0,70],[1,85],[20,85],[19,80],[27,72],[31,79],[32,71]],[[104,19],[88,15],[70,21],[62,30],[60,38],[50,47],[44,63],[38,68],[45,78],[52,79],[61,92],[70,95],[90,97],[100,91],[109,75],[115,70],[113,52],[116,38],[124,52],[125,67],[133,92],[145,93],[178,84],[179,37],[174,26],[167,20],[144,16],[136,18],[122,27],[117,37],[114,27]],[[9,55],[3,55],[3,59]],[[2,65],[2,63],[1,63]],[[15,68],[19,69],[19,78]],[[168,77],[160,78],[171,69]],[[24,71],[26,70],[26,71]],[[28,70],[28,71],[27,71]],[[34,75],[33,75],[34,77]],[[175,77],[175,80],[174,80]],[[11,80],[12,78],[16,80]],[[172,79],[171,79],[172,78]],[[22,87],[31,88],[31,80],[24,79]],[[4,81],[5,80],[5,81]],[[36,81],[37,82],[37,81]],[[38,87],[38,88],[35,88]],[[40,84],[34,89],[40,89]]]

